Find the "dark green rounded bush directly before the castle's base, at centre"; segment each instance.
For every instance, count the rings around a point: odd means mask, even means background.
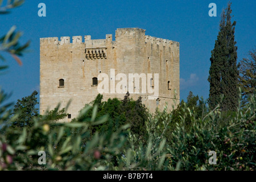
[[[96,99],[91,103],[92,108],[82,115],[80,118],[73,119],[73,121],[88,121],[86,118],[90,118],[93,115],[95,108],[97,108],[96,119],[108,114],[108,122],[102,125],[92,127],[92,133],[96,131],[105,132],[111,127],[113,131],[116,131],[120,126],[130,124],[130,130],[133,134],[143,136],[146,134],[146,127],[144,125],[148,117],[148,111],[142,104],[141,97],[137,101],[134,101],[129,97],[129,93],[126,94],[123,100],[117,98],[109,98],[108,101],[102,102],[103,96],[98,94]],[[88,105],[86,105],[88,106]],[[85,106],[85,107],[86,107]],[[97,107],[96,107],[97,106]]]

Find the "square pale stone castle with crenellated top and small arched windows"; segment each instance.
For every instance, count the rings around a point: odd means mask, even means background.
[[[174,101],[179,104],[179,43],[145,35],[141,28],[118,28],[114,41],[111,34],[107,34],[106,39],[96,40],[85,35],[84,42],[82,36],[73,36],[72,43],[67,36],[60,40],[40,38],[40,114],[54,109],[59,103],[61,108],[65,107],[71,100],[65,119],[71,121],[85,104],[96,98],[98,86],[103,81],[98,79],[101,73],[109,77],[110,90],[118,84],[115,77],[118,73],[127,77],[130,73],[152,75],[147,85],[159,92],[153,99],[150,96],[154,94],[141,92],[145,80],[139,79],[137,88],[134,81],[129,82],[130,85],[134,83],[134,91],[139,89],[139,92],[130,92],[130,96],[135,100],[141,96],[142,103],[151,112],[156,107],[162,110],[166,102],[168,109]],[[158,75],[157,85],[154,85],[155,75]],[[124,96],[125,93],[103,93],[104,100],[123,99]]]

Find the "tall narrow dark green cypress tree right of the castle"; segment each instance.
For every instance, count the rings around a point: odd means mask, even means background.
[[[222,110],[236,110],[238,105],[237,46],[234,40],[236,21],[231,23],[231,3],[222,11],[220,31],[210,57],[209,106],[215,107],[224,95]]]

